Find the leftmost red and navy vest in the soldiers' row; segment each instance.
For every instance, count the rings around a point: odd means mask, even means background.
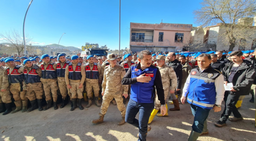
[[[19,68],[20,66],[16,65],[11,74],[9,72],[10,69],[7,69],[9,83],[22,83],[24,81],[24,74],[18,72]]]

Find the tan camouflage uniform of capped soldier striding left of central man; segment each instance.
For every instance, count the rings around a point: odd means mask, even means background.
[[[124,107],[122,94],[128,94],[128,85],[122,85],[121,81],[125,75],[124,67],[119,64],[115,67],[110,65],[105,67],[104,77],[102,82],[102,92],[104,93],[102,106],[100,108],[100,116],[104,116],[108,110],[109,103],[113,98],[117,101],[117,108],[121,112],[122,117],[125,116],[126,108]]]

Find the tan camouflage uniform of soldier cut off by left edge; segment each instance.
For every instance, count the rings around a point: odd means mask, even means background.
[[[2,90],[6,90],[1,92]],[[11,103],[11,93],[7,75],[4,75],[4,67],[0,67],[0,103]]]

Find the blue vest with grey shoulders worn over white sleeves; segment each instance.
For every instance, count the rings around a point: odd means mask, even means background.
[[[203,72],[199,67],[190,72],[189,93],[187,102],[198,107],[211,109],[215,105],[216,90],[215,79],[221,73],[209,67]]]

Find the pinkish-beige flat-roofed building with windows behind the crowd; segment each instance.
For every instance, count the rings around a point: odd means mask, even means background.
[[[132,52],[182,51],[191,39],[192,24],[130,23],[130,49]]]

